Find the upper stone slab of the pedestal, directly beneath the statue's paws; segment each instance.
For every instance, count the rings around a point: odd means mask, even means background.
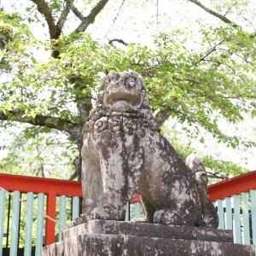
[[[232,230],[189,226],[132,223],[113,220],[91,220],[61,232],[61,240],[84,234],[148,236],[184,240],[233,242]]]

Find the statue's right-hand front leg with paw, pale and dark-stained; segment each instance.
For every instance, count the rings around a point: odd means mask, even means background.
[[[102,174],[102,207],[96,207],[90,219],[125,220],[128,164],[122,133],[103,131],[97,143]]]

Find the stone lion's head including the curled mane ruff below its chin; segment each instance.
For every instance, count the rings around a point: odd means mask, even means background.
[[[131,134],[137,129],[140,136],[160,131],[148,104],[145,80],[134,71],[109,73],[102,79],[96,107],[90,110],[90,121],[84,125],[87,131],[125,131]],[[128,130],[127,130],[128,129]]]

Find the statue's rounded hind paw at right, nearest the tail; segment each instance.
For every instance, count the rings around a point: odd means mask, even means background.
[[[160,210],[154,212],[154,223],[157,224],[185,224],[184,219],[174,210]]]

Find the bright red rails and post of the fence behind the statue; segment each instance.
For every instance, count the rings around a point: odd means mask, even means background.
[[[82,186],[80,182],[43,178],[26,177],[20,175],[0,174],[0,186],[9,191],[19,190],[20,192],[44,193],[47,195],[46,214],[55,219],[55,206],[57,195],[82,197]],[[238,177],[212,184],[208,187],[208,193],[212,201],[222,199],[241,192],[256,189],[256,171],[247,172]],[[140,197],[131,200],[140,202]],[[45,245],[55,242],[55,223],[49,218],[46,219]]]

